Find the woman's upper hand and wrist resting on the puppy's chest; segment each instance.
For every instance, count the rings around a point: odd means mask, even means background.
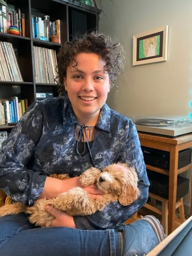
[[[61,188],[61,190],[62,190],[61,193],[66,192],[71,188],[80,187],[80,188],[83,188],[93,198],[99,198],[104,194],[94,184],[90,185],[88,187],[82,186],[79,176],[70,178],[68,180],[62,180],[62,181],[63,181],[63,186]]]

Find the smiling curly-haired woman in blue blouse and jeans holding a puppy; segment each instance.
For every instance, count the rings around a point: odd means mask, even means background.
[[[0,151],[0,188],[13,200],[33,205],[38,198],[82,187],[79,175],[87,168],[121,161],[136,169],[140,198],[129,207],[111,203],[85,217],[47,209],[55,216],[51,228],[35,228],[23,213],[2,217],[0,255],[143,255],[158,244],[147,221],[118,228],[145,204],[149,186],[134,124],[105,103],[123,68],[121,45],[99,33],[62,45],[60,92],[67,94],[33,103],[12,130]],[[71,179],[57,180],[51,173],[69,173]],[[84,190],[102,196],[93,185]]]

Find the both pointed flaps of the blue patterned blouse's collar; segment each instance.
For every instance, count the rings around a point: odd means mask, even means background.
[[[110,132],[110,117],[111,117],[110,108],[105,103],[101,108],[96,127],[98,127],[103,131]],[[71,102],[68,98],[68,95],[64,96],[63,121],[65,125],[66,124],[72,125],[77,123],[75,113],[71,105]]]

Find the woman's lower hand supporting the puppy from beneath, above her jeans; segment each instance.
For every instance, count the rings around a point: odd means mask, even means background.
[[[75,228],[75,222],[73,220],[73,217],[68,213],[61,212],[60,210],[50,205],[46,205],[45,210],[55,217],[55,219],[52,220],[50,227]]]

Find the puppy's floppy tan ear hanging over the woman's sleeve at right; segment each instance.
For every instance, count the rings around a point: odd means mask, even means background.
[[[119,203],[128,206],[140,196],[140,190],[135,182],[128,182],[119,196]]]

